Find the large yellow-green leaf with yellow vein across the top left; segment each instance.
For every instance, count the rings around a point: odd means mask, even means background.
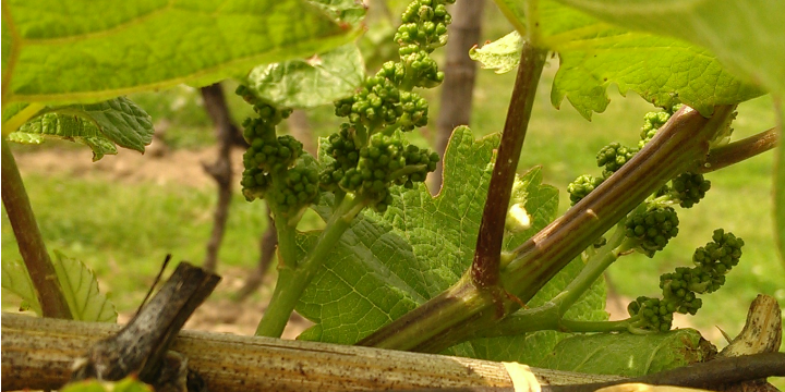
[[[302,0],[10,0],[0,12],[5,102],[214,83],[324,52],[357,32]]]

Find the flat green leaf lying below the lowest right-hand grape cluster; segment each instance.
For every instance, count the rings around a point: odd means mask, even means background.
[[[692,329],[642,335],[577,334],[559,342],[536,366],[637,377],[704,362],[714,354],[716,348]]]

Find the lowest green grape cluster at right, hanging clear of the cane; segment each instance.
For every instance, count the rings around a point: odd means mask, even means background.
[[[698,294],[715,292],[725,284],[725,275],[738,265],[744,240],[717,229],[712,242],[696,249],[692,268],[678,267],[660,277],[663,298],[638,297],[627,307],[638,319],[633,327],[642,330],[668,331],[673,314],[695,315],[703,305]]]

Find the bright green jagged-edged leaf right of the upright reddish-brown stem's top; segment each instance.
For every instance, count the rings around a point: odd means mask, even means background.
[[[711,114],[714,106],[738,103],[761,94],[734,77],[701,47],[614,27],[553,0],[541,1],[540,8],[540,44],[558,52],[560,59],[551,90],[556,108],[567,98],[591,119],[593,112],[607,108],[606,90],[612,84],[623,95],[631,90],[660,107],[681,101],[704,115]]]

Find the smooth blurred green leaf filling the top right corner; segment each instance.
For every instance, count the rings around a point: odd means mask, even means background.
[[[785,93],[782,0],[558,0],[606,22],[711,49],[737,75]]]

